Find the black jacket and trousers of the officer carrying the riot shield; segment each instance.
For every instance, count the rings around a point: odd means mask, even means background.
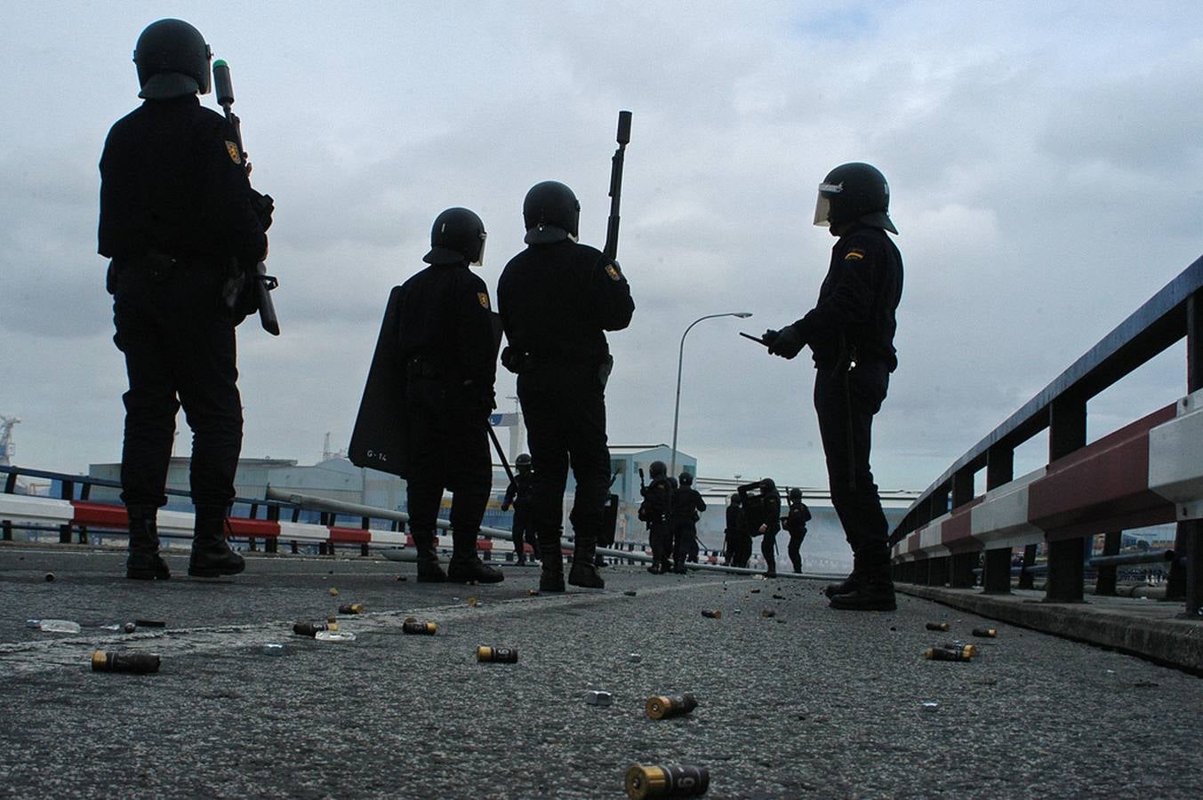
[[[488,290],[466,262],[431,265],[402,284],[399,319],[410,528],[434,531],[448,488],[452,531],[475,537],[493,481],[486,426],[498,339]]]

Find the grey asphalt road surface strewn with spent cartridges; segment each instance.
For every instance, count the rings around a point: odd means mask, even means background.
[[[1003,624],[973,639],[989,621],[928,600],[840,612],[817,581],[640,567],[528,595],[531,567],[473,587],[371,557],[251,557],[217,581],[168,562],[140,582],[112,551],[0,546],[0,795],[621,798],[634,763],[704,765],[712,798],[1199,795],[1203,680]],[[355,641],[292,634],[344,603],[366,605],[339,617]],[[403,635],[408,615],[438,634]],[[100,627],[132,620],[166,627]],[[979,656],[923,658],[953,640]],[[93,672],[95,648],[162,666]],[[693,713],[644,713],[681,692]]]

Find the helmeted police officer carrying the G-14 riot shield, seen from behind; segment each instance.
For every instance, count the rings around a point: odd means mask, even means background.
[[[485,255],[485,226],[467,208],[434,219],[426,267],[401,286],[398,354],[405,365],[409,527],[417,580],[496,583],[499,570],[476,556],[493,468],[497,345],[485,282],[469,269]],[[434,531],[443,490],[451,491],[451,562],[439,567]]]

